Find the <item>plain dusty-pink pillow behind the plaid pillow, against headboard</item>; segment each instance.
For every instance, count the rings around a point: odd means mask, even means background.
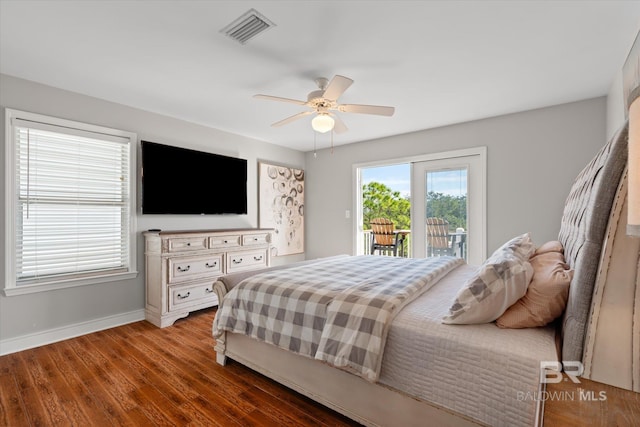
[[[535,328],[558,318],[567,306],[573,270],[565,263],[562,243],[547,242],[529,260],[533,279],[524,297],[498,318],[501,328]]]

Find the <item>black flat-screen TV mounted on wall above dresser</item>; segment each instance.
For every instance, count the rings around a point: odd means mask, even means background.
[[[246,214],[247,161],[142,144],[143,214]]]

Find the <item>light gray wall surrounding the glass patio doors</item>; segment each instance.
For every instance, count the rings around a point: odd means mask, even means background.
[[[307,258],[352,253],[352,165],[487,147],[487,253],[531,232],[556,239],[578,172],[605,144],[606,98],[478,120],[307,153]]]

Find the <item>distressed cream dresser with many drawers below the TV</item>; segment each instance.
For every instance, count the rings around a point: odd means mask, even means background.
[[[145,318],[164,328],[218,304],[220,276],[268,267],[271,229],[147,231]]]

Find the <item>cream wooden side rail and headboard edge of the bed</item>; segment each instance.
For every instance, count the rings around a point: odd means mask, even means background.
[[[602,250],[598,259],[591,260],[592,266],[599,265],[598,280],[585,325],[582,361],[586,377],[591,375],[600,382],[640,391],[640,241],[627,237],[623,231],[626,174],[607,185],[610,192],[615,191],[615,197]],[[227,293],[224,283],[216,282],[214,290],[222,301]],[[619,301],[620,295],[632,298]],[[621,303],[626,305],[621,307]],[[614,332],[621,326],[611,317],[612,312],[620,311],[630,313],[624,334]],[[611,336],[617,340],[613,347]],[[620,348],[625,351],[620,352]],[[231,358],[364,425],[417,426],[424,425],[425,420],[438,426],[482,425],[462,414],[243,335],[224,334],[217,339],[215,350],[219,364],[224,365]],[[618,372],[623,373],[625,381],[620,380]],[[540,425],[541,418],[539,406],[536,425]]]

